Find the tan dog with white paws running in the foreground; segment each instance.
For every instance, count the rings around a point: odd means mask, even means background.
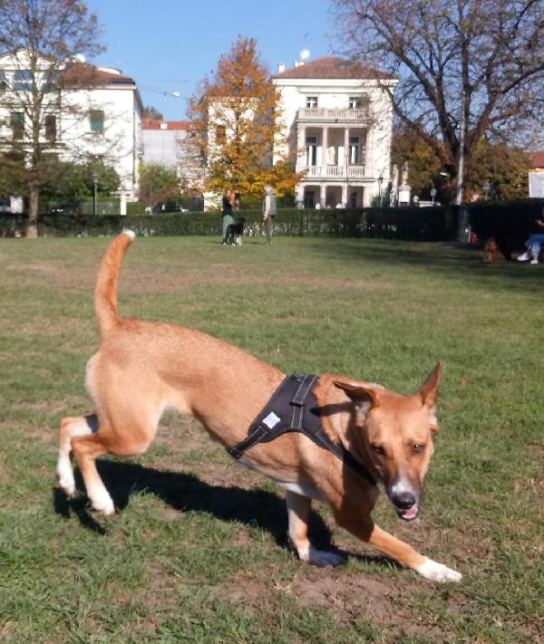
[[[92,507],[103,514],[115,510],[96,469],[96,457],[145,452],[168,407],[199,418],[211,437],[232,447],[247,437],[252,420],[284,379],[266,362],[205,333],[165,322],[121,319],[118,277],[133,237],[126,232],[113,239],[96,284],[101,346],[87,365],[86,385],[98,429],[85,417],[63,418],[60,428],[60,485],[67,495],[75,493],[73,452]],[[321,376],[315,389],[326,434],[384,484],[405,520],[419,513],[432,434],[438,429],[434,407],[441,371],[439,363],[422,388],[408,397],[330,374]],[[241,461],[286,488],[288,537],[301,560],[320,566],[343,561],[335,553],[316,550],[308,540],[310,504],[318,498],[331,506],[337,524],[423,577],[435,582],[461,580],[459,572],[433,562],[375,525],[371,512],[377,486],[306,436],[287,433],[257,444]]]

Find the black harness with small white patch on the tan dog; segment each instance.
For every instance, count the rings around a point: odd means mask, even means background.
[[[371,485],[376,485],[374,476],[366,467],[345,447],[338,445],[325,434],[313,392],[317,379],[318,376],[312,373],[296,373],[293,376],[287,376],[249,426],[248,437],[235,447],[227,447],[228,454],[238,459],[249,447],[257,443],[269,443],[282,434],[298,431],[319,447],[328,449]]]

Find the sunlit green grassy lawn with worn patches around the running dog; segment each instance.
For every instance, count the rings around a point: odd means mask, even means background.
[[[444,362],[421,519],[402,524],[384,498],[374,513],[463,573],[442,586],[335,528],[325,506],[317,543],[351,556],[334,570],[298,562],[281,490],[187,418],[163,418],[143,457],[101,460],[116,516],[64,498],[57,426],[92,411],[106,242],[0,241],[0,641],[544,641],[543,266],[318,238],[141,238],[127,257],[123,315],[197,327],[286,372],[409,393]]]

